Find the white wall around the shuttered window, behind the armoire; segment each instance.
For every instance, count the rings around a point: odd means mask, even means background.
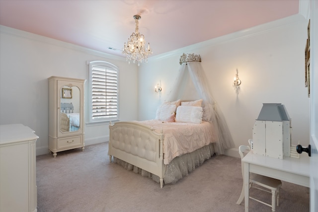
[[[94,60],[104,60],[119,68],[120,118],[136,120],[137,65],[128,65],[120,57],[0,26],[0,124],[21,123],[30,127],[39,136],[37,155],[48,153],[47,78],[55,75],[87,80],[86,62]],[[86,82],[86,93],[87,85]],[[86,145],[108,141],[108,123],[85,125],[84,131]]]

